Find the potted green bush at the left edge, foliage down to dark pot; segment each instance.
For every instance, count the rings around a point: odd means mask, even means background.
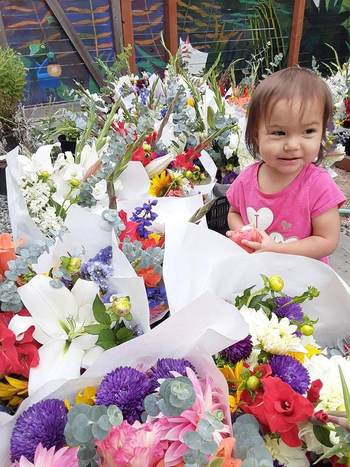
[[[20,101],[24,98],[26,69],[17,54],[10,47],[0,48],[0,194],[6,194],[4,156],[18,145],[13,136],[14,116]]]

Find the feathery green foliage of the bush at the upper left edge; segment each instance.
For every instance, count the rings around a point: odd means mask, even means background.
[[[19,54],[0,48],[0,123],[11,129],[19,102],[24,98],[26,69]]]

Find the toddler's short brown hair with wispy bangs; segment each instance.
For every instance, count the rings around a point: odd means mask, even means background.
[[[292,67],[275,72],[265,78],[254,90],[247,110],[245,144],[254,157],[259,159],[259,147],[255,137],[260,119],[269,119],[272,108],[280,100],[292,103],[294,99],[301,102],[300,113],[311,101],[323,103],[322,140],[316,164],[322,162],[331,151],[326,138],[327,124],[332,120],[333,98],[327,84],[306,68]]]

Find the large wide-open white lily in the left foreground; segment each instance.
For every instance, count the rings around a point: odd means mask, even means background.
[[[51,287],[50,281],[40,274],[18,288],[32,318],[16,315],[9,325],[16,336],[34,325],[34,337],[43,344],[39,365],[29,373],[29,394],[53,379],[79,377],[81,367],[88,368],[103,352],[95,345],[97,336],[82,330],[84,325],[96,323],[92,303],[99,287],[78,279],[70,292],[66,287]]]

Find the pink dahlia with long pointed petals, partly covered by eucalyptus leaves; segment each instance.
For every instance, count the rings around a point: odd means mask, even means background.
[[[178,417],[164,417],[168,420],[169,425],[164,426],[162,436],[163,439],[171,441],[169,449],[164,456],[165,467],[176,466],[181,460],[183,454],[187,451],[188,447],[184,443],[184,435],[187,431],[195,431],[199,420],[205,418],[206,412],[214,412],[215,410],[222,410],[225,412],[225,406],[220,403],[221,393],[213,386],[213,380],[210,377],[199,381],[191,368],[186,368],[187,377],[193,384],[196,393],[196,400],[191,409],[185,410]],[[171,372],[175,377],[181,376],[176,372]],[[213,433],[214,440],[219,445],[221,441],[229,433],[228,425],[219,431],[215,430]]]

